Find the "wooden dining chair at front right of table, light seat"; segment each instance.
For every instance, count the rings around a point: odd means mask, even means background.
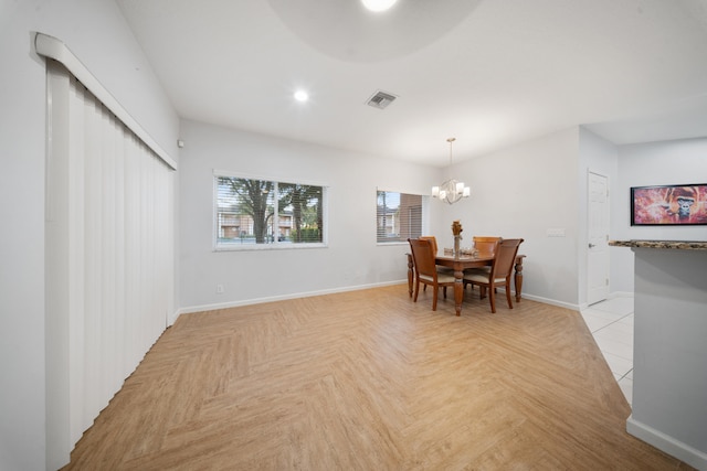
[[[464,274],[464,285],[477,285],[481,288],[482,299],[486,297],[486,290],[488,290],[490,312],[496,312],[496,287],[499,286],[506,288],[508,308],[513,309],[513,301],[510,300],[510,276],[513,275],[516,255],[518,255],[518,247],[521,243],[521,238],[505,238],[500,240],[490,271]]]

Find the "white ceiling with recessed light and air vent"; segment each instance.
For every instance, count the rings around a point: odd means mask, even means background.
[[[439,167],[447,137],[707,136],[707,0],[116,1],[187,119]]]

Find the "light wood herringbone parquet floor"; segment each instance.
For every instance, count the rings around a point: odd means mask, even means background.
[[[578,312],[407,285],[181,315],[65,470],[686,470]],[[503,299],[500,300],[503,301]]]

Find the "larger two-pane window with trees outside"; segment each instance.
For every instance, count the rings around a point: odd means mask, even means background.
[[[215,248],[324,245],[326,188],[215,175]]]

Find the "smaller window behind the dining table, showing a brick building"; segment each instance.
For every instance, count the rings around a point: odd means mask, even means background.
[[[419,194],[378,191],[376,227],[379,244],[403,243],[422,235],[423,203]]]

